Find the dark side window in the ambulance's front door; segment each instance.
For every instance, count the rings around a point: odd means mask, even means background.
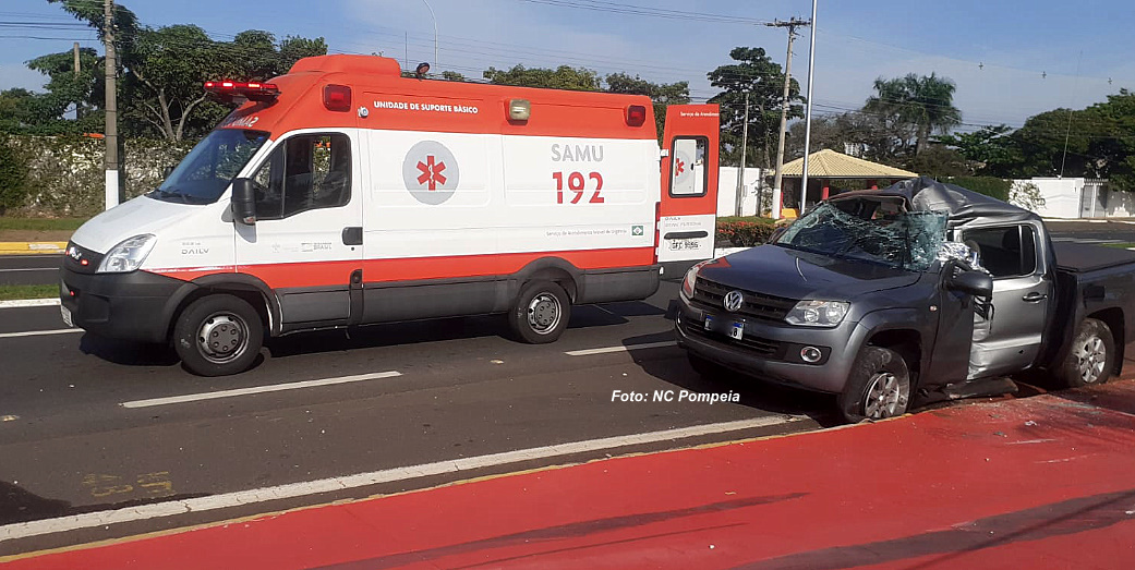
[[[253,177],[257,217],[280,219],[351,201],[351,140],[306,134],[284,141]]]

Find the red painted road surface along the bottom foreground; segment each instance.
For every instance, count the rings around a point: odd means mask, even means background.
[[[1135,383],[597,461],[11,568],[1135,568]]]

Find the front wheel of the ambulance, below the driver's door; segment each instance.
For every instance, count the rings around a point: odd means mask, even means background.
[[[190,303],[174,326],[174,349],[191,372],[228,376],[243,372],[260,354],[263,322],[246,301],[210,295]]]

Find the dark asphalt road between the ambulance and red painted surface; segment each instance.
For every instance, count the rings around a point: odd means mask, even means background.
[[[3,525],[212,496],[442,460],[735,420],[768,426],[403,478],[340,493],[2,540],[0,554],[437,485],[518,468],[813,429],[832,399],[697,376],[647,302],[577,307],[550,345],[506,340],[503,319],[461,318],[294,335],[243,375],[201,378],[163,346],[66,332],[57,307],[0,309],[0,531]],[[59,332],[65,330],[65,332]],[[50,332],[16,336],[26,332]],[[14,335],[16,334],[16,335]],[[653,347],[623,350],[648,344]],[[659,345],[661,344],[661,345]],[[568,352],[607,349],[572,355]],[[280,392],[148,405],[143,400],[389,372]],[[398,376],[392,376],[398,372]],[[739,403],[612,401],[734,391]],[[151,404],[153,402],[150,402]],[[131,406],[127,406],[127,405]],[[784,422],[784,414],[799,414]],[[2,533],[0,533],[2,534]]]

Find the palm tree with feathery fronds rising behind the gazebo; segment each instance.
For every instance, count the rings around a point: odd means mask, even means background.
[[[867,98],[866,112],[883,115],[915,127],[915,154],[922,154],[934,131],[947,133],[961,124],[961,111],[953,106],[956,86],[949,77],[931,73],[918,77],[907,74],[893,79],[875,79],[875,95]]]

